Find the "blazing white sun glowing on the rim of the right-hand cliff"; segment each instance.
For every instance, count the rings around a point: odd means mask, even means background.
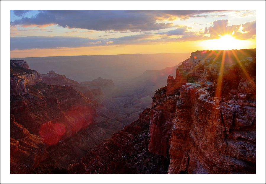
[[[202,47],[209,50],[243,49],[250,45],[249,40],[238,40],[231,35],[220,36],[219,39],[202,41]]]

